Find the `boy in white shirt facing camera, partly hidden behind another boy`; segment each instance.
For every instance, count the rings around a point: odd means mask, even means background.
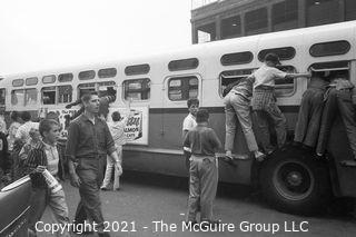
[[[190,131],[197,126],[196,116],[199,109],[199,100],[196,98],[190,98],[187,101],[187,106],[188,106],[189,113],[182,121],[182,139],[185,139],[188,131]],[[189,147],[182,147],[182,149],[186,157],[186,167],[189,170],[189,162],[190,162],[189,158],[190,158],[191,151]]]

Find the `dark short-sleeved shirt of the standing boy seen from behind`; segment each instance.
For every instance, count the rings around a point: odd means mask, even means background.
[[[211,128],[198,125],[188,131],[184,146],[189,147],[195,156],[215,156],[221,142]]]

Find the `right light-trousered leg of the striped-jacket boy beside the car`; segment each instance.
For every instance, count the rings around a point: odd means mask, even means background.
[[[66,203],[65,191],[59,190],[56,194],[50,194],[49,204],[52,210],[53,220],[61,226],[63,231],[58,231],[57,236],[70,237],[69,235],[69,217],[68,217],[68,206]]]

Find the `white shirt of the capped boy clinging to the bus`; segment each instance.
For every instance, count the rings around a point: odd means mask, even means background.
[[[267,65],[263,65],[253,76],[255,77],[254,88],[258,86],[275,86],[275,79],[284,79],[287,73]]]

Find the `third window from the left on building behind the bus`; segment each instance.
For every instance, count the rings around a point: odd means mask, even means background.
[[[267,32],[268,29],[267,8],[249,11],[245,14],[246,34]]]

